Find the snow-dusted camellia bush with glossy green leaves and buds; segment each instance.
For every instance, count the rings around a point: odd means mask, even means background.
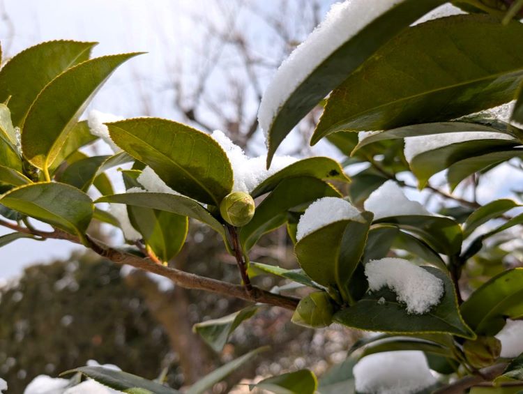
[[[266,305],[293,310],[292,320],[310,328],[335,323],[377,333],[354,344],[343,368],[319,384],[299,370],[255,385],[275,393],[522,390],[523,269],[497,241],[523,223],[521,204],[499,195],[480,205],[452,192],[523,157],[523,2],[460,0],[439,8],[444,3],[333,6],[268,85],[259,109],[268,153],[257,158],[224,132],[175,121],[96,111],[79,121],[109,75],[137,54],[90,59],[94,44],[73,41],[17,54],[0,70],[0,225],[13,230],[0,244],[63,239],[177,286],[250,301],[195,326],[215,351]],[[347,156],[343,165],[276,155],[294,126],[319,110],[311,144],[328,140]],[[97,138],[114,155],[87,156],[82,148]],[[344,169],[354,164],[359,170],[349,179]],[[106,172],[123,165],[126,190],[115,192]],[[429,183],[443,170],[446,190]],[[453,205],[433,213],[411,201],[405,174]],[[101,195],[94,201],[91,187]],[[87,229],[94,220],[121,228],[127,245],[93,238]],[[190,220],[222,236],[237,282],[169,267]],[[296,269],[250,261],[259,239],[282,225]],[[262,289],[252,284],[259,275],[294,285]],[[186,392],[203,393],[260,351]],[[67,393],[75,392],[78,373],[127,393],[177,392],[97,365],[73,372],[62,379],[73,386]]]

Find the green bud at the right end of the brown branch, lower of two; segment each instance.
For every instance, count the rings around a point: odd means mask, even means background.
[[[331,325],[334,306],[325,291],[315,291],[302,298],[292,315],[292,322],[299,326],[321,328]]]

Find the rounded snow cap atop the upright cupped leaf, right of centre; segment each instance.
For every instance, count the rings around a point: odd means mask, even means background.
[[[360,211],[350,202],[338,197],[323,197],[308,206],[301,215],[296,231],[296,240],[315,232],[321,227],[340,220],[362,220]]]

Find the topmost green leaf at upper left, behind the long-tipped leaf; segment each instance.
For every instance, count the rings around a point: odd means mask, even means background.
[[[94,45],[96,43],[48,41],[29,47],[10,59],[0,70],[0,102],[11,96],[9,108],[13,124],[22,126],[38,93],[57,75],[89,59]]]

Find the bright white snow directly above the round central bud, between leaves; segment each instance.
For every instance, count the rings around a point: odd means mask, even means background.
[[[266,169],[266,156],[248,158],[239,146],[229,139],[222,131],[215,130],[211,135],[227,154],[234,174],[234,192],[252,192],[257,185],[296,162],[291,156],[275,156],[270,169]]]

